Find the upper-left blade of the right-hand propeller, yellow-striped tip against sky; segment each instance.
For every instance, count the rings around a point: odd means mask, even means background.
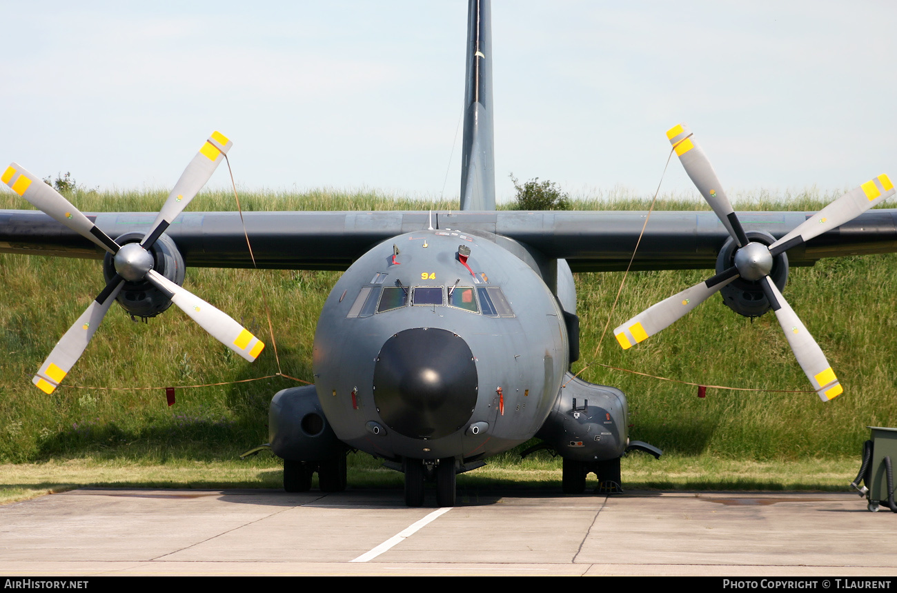
[[[732,203],[726,197],[726,192],[723,191],[716,171],[710,165],[710,160],[707,159],[707,155],[701,150],[698,142],[695,142],[688,125],[673,126],[666,131],[666,137],[673,145],[685,172],[692,178],[692,183],[704,196],[704,200],[710,204],[710,208],[716,212],[717,218],[726,227],[729,235],[736,240],[739,247],[747,245],[745,229],[742,228],[735,211],[732,210]]]

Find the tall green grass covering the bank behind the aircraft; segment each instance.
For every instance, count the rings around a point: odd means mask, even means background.
[[[736,196],[741,210],[813,211],[840,192]],[[166,193],[76,193],[83,211],[156,211]],[[449,209],[373,191],[245,193],[244,210]],[[574,208],[645,210],[649,196],[614,190]],[[24,208],[3,193],[0,208]],[[692,195],[665,195],[662,210],[707,210]],[[232,193],[203,193],[191,210],[234,210]],[[630,399],[631,438],[679,455],[796,460],[859,455],[867,425],[897,425],[897,338],[893,314],[897,256],[848,257],[793,269],[788,302],[823,348],[845,392],[831,402],[813,393],[708,390],[588,365],[588,381],[620,387]],[[619,322],[710,276],[710,271],[631,273],[610,320]],[[275,374],[262,295],[271,306],[284,374],[313,381],[311,342],[318,313],[338,272],[188,270],[185,287],[242,321],[268,343],[248,365],[175,307],[148,323],[113,306],[81,360],[54,394],[31,374],[103,286],[99,262],[0,254],[0,461],[49,459],[230,459],[267,439],[267,405],[284,378],[179,389],[169,408],[165,386],[235,382]],[[579,274],[582,360],[686,382],[766,390],[806,390],[779,323],[750,322],[718,297],[630,350],[610,331],[599,344],[622,273]],[[122,388],[83,389],[83,387]],[[135,387],[155,387],[136,390]]]

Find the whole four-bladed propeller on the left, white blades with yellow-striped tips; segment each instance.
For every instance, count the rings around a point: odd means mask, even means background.
[[[9,185],[13,192],[18,193],[39,210],[79,235],[100,245],[113,255],[113,262],[115,262],[116,273],[109,280],[106,288],[102,289],[87,310],[78,318],[78,321],[74,322],[74,325],[65,332],[65,335],[50,352],[47,360],[40,365],[38,373],[33,379],[34,384],[40,390],[46,393],[56,390],[74,363],[81,357],[84,349],[87,348],[93,334],[100,327],[100,322],[109,311],[109,306],[118,297],[118,292],[125,282],[143,279],[151,282],[163,294],[170,297],[175,305],[178,305],[182,311],[199,323],[205,331],[212,334],[213,338],[221,341],[241,357],[246,358],[249,362],[258,357],[262,349],[265,348],[265,344],[261,340],[213,305],[209,305],[203,299],[191,294],[186,288],[179,287],[159,272],[152,270],[153,257],[149,251],[159,236],[209,180],[215,168],[224,159],[224,155],[231,149],[231,145],[232,142],[219,132],[214,132],[205,141],[202,148],[187,165],[162,206],[159,215],[152,223],[152,227],[139,244],[118,245],[91,219],[84,216],[71,202],[39,177],[32,175],[18,163],[13,163],[6,168],[3,176],[0,176],[0,180]]]

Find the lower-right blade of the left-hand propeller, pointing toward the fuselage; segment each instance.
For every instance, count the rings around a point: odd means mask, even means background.
[[[265,348],[262,340],[249,333],[228,314],[190,293],[187,288],[179,287],[154,270],[149,271],[146,279],[163,293],[168,293],[171,301],[178,305],[181,311],[192,317],[193,321],[199,323],[200,327],[212,334],[214,339],[231,348],[239,356],[246,358],[250,363]]]

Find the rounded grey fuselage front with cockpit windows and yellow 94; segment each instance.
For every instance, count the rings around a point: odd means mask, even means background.
[[[543,425],[568,367],[567,331],[534,266],[497,238],[396,236],[336,283],[314,373],[341,441],[389,460],[479,460]]]

